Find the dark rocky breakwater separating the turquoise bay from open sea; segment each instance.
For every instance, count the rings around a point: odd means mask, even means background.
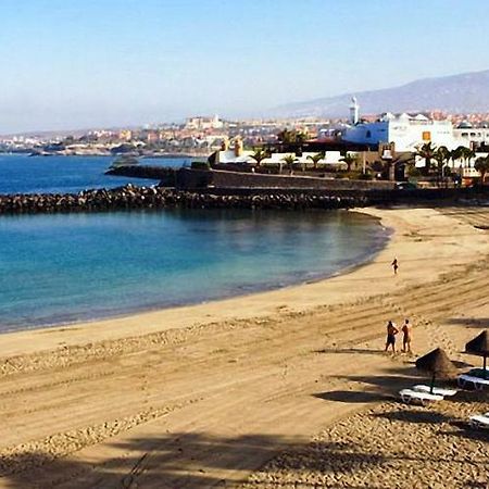
[[[333,197],[310,192],[269,191],[249,195],[213,195],[163,187],[127,185],[79,193],[25,193],[0,196],[0,214],[106,212],[131,209],[341,209],[368,204],[365,198]]]

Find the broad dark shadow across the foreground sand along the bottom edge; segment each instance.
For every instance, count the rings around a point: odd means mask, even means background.
[[[258,469],[279,452],[300,454],[310,443],[279,436],[214,437],[205,434],[168,434],[134,438],[109,446],[117,453],[110,459],[82,460],[53,456],[38,451],[0,457],[0,481],[11,488],[208,488],[229,487],[231,481],[213,475],[213,469]],[[334,473],[364,469],[385,459],[350,443],[316,442],[316,455],[300,457],[300,468]],[[102,452],[103,454],[103,452]],[[317,455],[317,454],[321,454]],[[293,468],[293,467],[292,467]],[[242,480],[242,481],[243,481]],[[0,482],[1,484],[1,482]]]

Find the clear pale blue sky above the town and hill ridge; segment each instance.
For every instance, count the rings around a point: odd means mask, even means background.
[[[0,0],[0,134],[266,115],[489,68],[488,0]]]

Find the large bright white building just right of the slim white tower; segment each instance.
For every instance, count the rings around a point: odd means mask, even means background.
[[[373,123],[360,122],[348,127],[342,136],[348,142],[363,145],[389,143],[396,145],[396,151],[416,151],[416,147],[425,142],[434,146],[446,146],[454,149],[457,146],[469,146],[454,135],[450,121],[431,121],[423,114],[406,113],[394,115],[386,113]]]

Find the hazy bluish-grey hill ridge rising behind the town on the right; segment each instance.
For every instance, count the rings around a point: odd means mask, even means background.
[[[489,112],[489,70],[461,75],[424,78],[399,87],[349,92],[278,106],[276,116],[347,116],[350,99],[355,96],[361,113],[423,112],[441,110],[451,113]]]

